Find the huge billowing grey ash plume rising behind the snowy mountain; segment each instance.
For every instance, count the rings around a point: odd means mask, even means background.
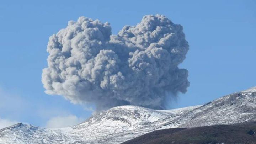
[[[182,30],[163,15],[146,15],[118,35],[108,22],[69,21],[49,38],[46,93],[93,103],[97,111],[127,104],[164,109],[168,96],[189,86],[188,71],[178,68],[189,47]]]

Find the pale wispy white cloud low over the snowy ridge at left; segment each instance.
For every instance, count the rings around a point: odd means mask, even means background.
[[[6,91],[0,86],[0,128],[18,122],[47,128],[60,128],[85,120],[84,116],[77,117],[63,105],[55,104],[49,104],[40,99],[29,99],[15,91]],[[91,107],[86,108],[86,111],[93,111]]]

